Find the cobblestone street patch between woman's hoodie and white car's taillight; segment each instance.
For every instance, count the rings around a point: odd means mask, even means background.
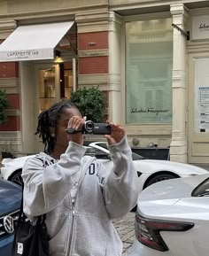
[[[113,225],[118,231],[120,239],[123,243],[122,256],[126,256],[128,248],[135,239],[135,213],[130,212],[124,218],[113,221]]]

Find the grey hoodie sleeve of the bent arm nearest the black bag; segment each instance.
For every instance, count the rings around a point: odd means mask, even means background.
[[[27,159],[23,167],[24,213],[38,216],[54,209],[74,184],[74,174],[81,169],[85,148],[70,142],[57,163],[44,167],[43,160]]]

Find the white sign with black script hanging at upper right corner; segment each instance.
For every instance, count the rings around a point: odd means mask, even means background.
[[[209,15],[192,17],[191,39],[209,39]]]

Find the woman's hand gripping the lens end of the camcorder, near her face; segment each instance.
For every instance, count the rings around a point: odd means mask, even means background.
[[[86,121],[86,117],[73,116],[67,125],[67,128],[74,129],[75,131],[80,131],[78,133],[67,134],[68,141],[74,142],[75,144],[83,144],[83,136],[81,134],[82,126]]]

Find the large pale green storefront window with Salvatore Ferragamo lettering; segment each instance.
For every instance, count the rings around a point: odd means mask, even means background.
[[[126,122],[172,121],[172,19],[126,23]]]

